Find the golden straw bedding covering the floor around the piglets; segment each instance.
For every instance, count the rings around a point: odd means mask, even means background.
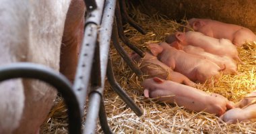
[[[163,42],[164,37],[177,31],[179,23],[164,16],[142,14],[133,9],[135,20],[148,30],[146,36],[133,27],[125,25],[125,35],[142,50],[148,51],[146,44]],[[123,44],[122,44],[123,45]],[[123,45],[124,46],[124,45]],[[132,51],[125,46],[128,53]],[[238,64],[239,74],[224,75],[214,86],[197,84],[205,92],[222,94],[229,100],[237,102],[245,94],[256,90],[256,44],[246,44],[238,48],[239,56],[245,65]],[[131,96],[137,106],[143,110],[143,116],[137,117],[121,98],[110,88],[106,80],[104,104],[108,124],[114,133],[256,133],[256,120],[227,124],[218,121],[218,117],[208,113],[186,111],[183,107],[160,103],[143,96],[141,82],[145,76],[137,77],[111,46],[115,78],[121,87]],[[63,100],[57,98],[49,118],[42,126],[41,133],[67,133],[67,115]],[[100,125],[96,133],[103,133]]]

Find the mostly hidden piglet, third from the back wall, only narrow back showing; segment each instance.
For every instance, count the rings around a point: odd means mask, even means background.
[[[209,52],[205,52],[202,48],[191,45],[185,46],[183,48],[183,51],[189,54],[201,56],[207,60],[211,60],[212,62],[220,66],[220,68],[226,67],[226,69],[222,71],[223,74],[238,74],[236,62],[228,56],[218,56],[215,54],[211,54]]]

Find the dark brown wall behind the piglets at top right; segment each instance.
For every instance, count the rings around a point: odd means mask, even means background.
[[[209,18],[256,31],[256,0],[127,0],[142,13],[168,19]]]

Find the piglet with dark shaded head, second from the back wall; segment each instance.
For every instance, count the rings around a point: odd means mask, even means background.
[[[236,46],[227,39],[216,39],[209,36],[205,36],[196,31],[176,32],[174,35],[166,37],[166,42],[171,44],[172,42],[179,42],[182,46],[197,46],[202,48],[205,52],[216,54],[218,56],[229,56],[238,62],[243,62],[238,57],[238,51]]]

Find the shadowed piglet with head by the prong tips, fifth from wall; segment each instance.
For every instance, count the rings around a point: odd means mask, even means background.
[[[139,68],[143,74],[148,75],[148,78],[159,77],[164,80],[172,80],[174,82],[195,86],[196,84],[189,80],[186,76],[179,72],[174,72],[166,64],[160,62],[156,56],[149,52],[145,52],[145,56],[141,58],[138,54],[132,53],[131,59],[139,63]]]

